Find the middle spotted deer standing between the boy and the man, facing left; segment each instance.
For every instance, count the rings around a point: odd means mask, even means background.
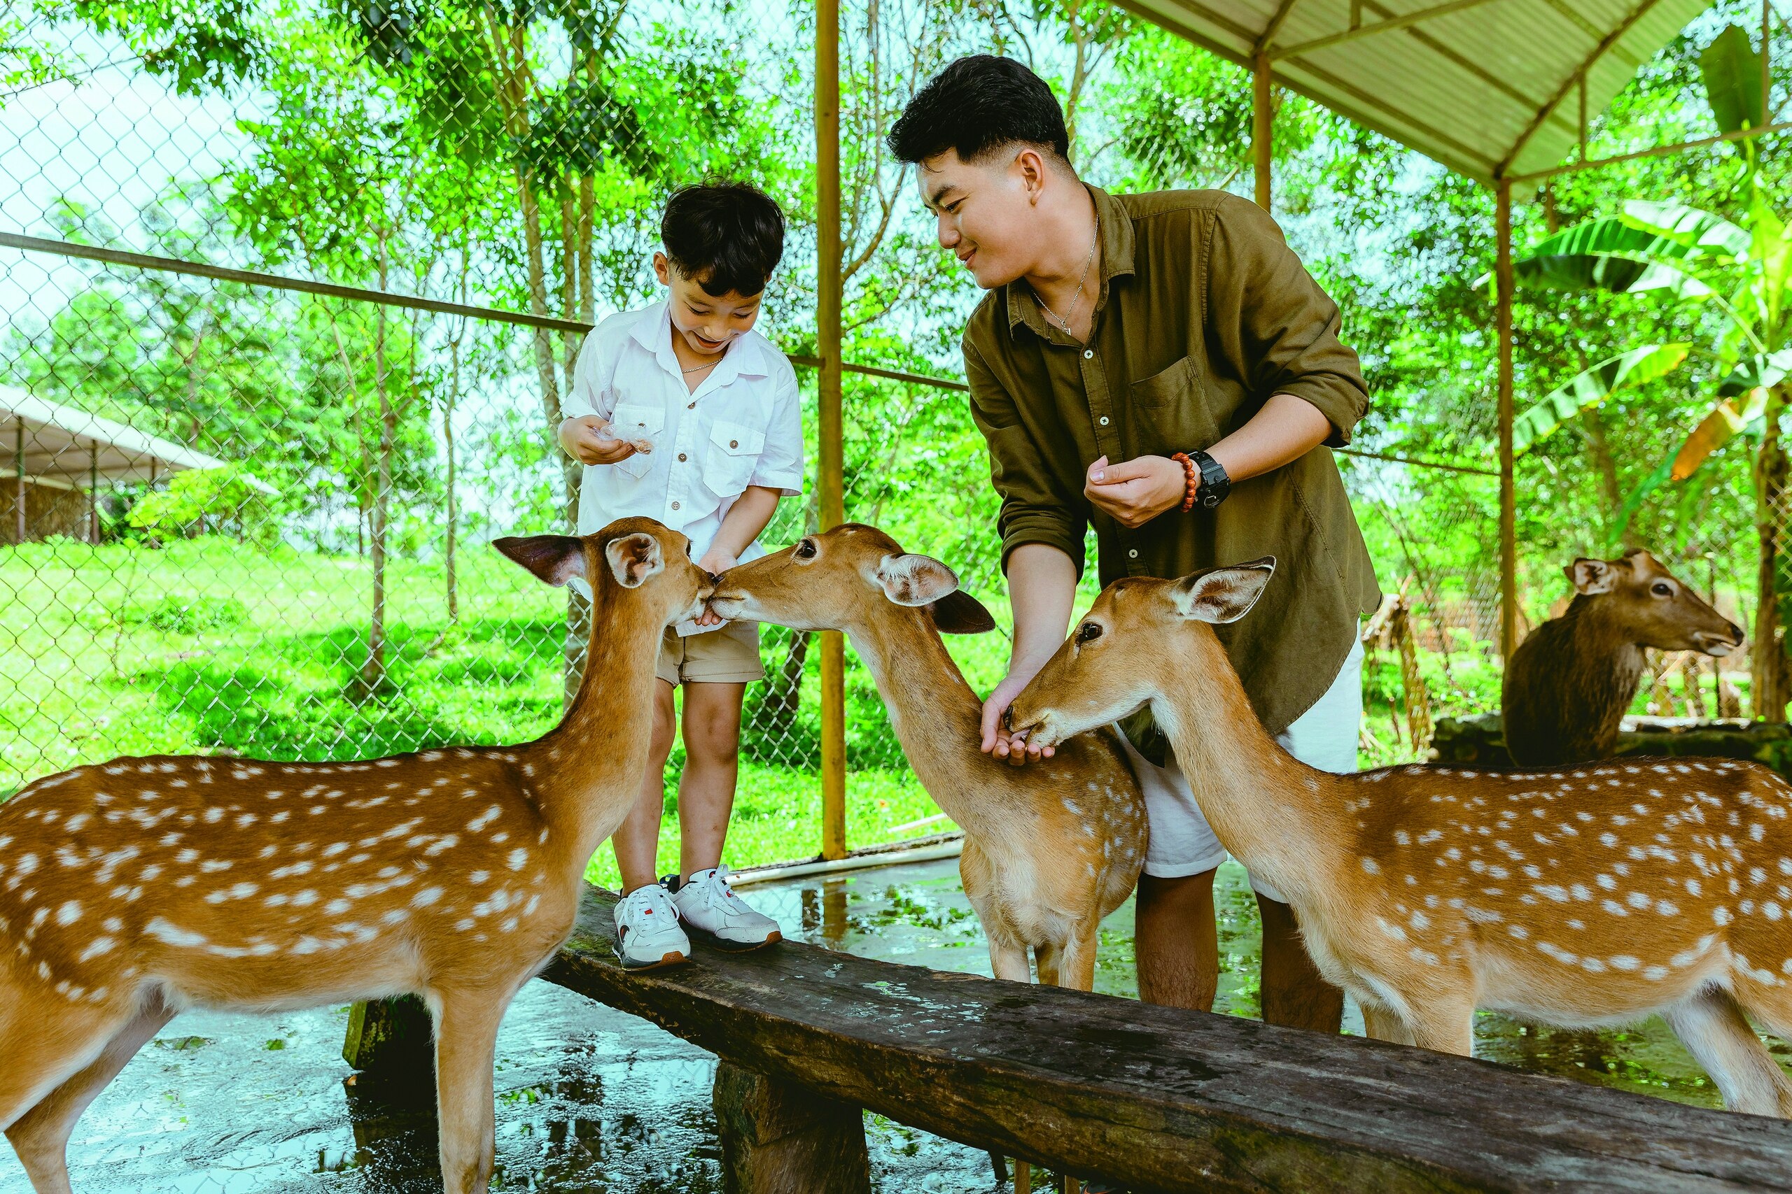
[[[995,630],[950,567],[874,526],[806,535],[722,573],[710,609],[844,630],[871,669],[916,777],[964,829],[959,874],[996,977],[1090,990],[1102,917],[1138,884],[1145,800],[1118,736],[1079,738],[1039,768],[977,748],[982,702],[939,632]]]

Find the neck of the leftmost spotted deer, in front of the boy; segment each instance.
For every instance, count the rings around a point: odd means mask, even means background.
[[[552,841],[579,874],[616,831],[642,788],[654,727],[654,662],[663,627],[647,601],[591,601],[584,675],[566,716],[520,748]]]

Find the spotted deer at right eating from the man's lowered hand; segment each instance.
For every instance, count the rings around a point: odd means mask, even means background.
[[[1054,746],[1149,704],[1213,832],[1287,893],[1371,1036],[1468,1054],[1475,1008],[1570,1028],[1659,1013],[1724,1106],[1792,1113],[1747,1020],[1792,1035],[1792,788],[1729,759],[1317,772],[1263,732],[1208,625],[1242,618],[1272,569],[1111,584],[1014,729]]]

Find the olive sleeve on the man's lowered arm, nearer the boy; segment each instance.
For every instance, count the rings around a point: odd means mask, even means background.
[[[1070,494],[1047,465],[1039,446],[1021,422],[1014,397],[964,340],[964,376],[971,383],[971,419],[989,444],[989,480],[1002,498],[996,528],[1002,532],[1002,571],[1009,555],[1029,542],[1045,542],[1077,566],[1082,575],[1082,532],[1088,507],[1081,490]]]

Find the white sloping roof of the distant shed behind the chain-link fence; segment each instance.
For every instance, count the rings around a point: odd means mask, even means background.
[[[224,460],[122,422],[0,387],[0,474],[18,467],[23,430],[25,476],[61,489],[84,487],[99,471],[108,482],[154,482],[181,469],[222,469]],[[274,492],[262,482],[249,485]]]

